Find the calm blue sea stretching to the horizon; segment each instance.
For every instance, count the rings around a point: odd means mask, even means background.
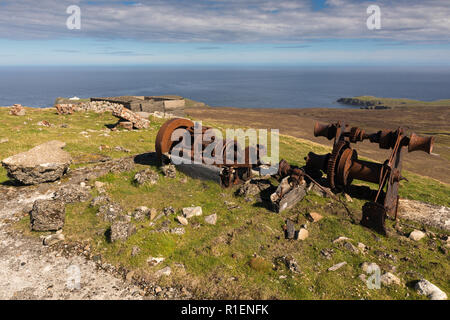
[[[0,67],[0,106],[42,108],[57,97],[164,94],[238,108],[352,108],[336,100],[362,95],[432,101],[450,98],[450,68]]]

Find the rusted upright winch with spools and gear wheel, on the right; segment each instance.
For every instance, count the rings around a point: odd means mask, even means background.
[[[408,147],[408,152],[424,151],[430,154],[434,137],[424,138],[414,133],[408,137],[402,128],[367,134],[360,128],[340,122],[329,125],[316,123],[314,136],[334,139],[333,151],[326,155],[310,152],[306,158],[306,168],[325,172],[332,190],[345,190],[355,179],[378,184],[375,199],[363,206],[361,224],[386,234],[385,218],[387,215],[396,218],[399,183],[405,179],[401,175],[402,151]],[[384,163],[358,159],[358,153],[351,143],[367,139],[377,143],[381,149],[391,150]]]

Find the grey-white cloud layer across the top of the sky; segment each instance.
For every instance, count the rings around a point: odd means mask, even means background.
[[[77,4],[82,29],[67,30],[66,8]],[[382,10],[382,30],[366,28],[366,9]],[[123,1],[2,0],[0,38],[124,38],[157,42],[299,42],[321,38],[379,38],[450,42],[448,0]]]

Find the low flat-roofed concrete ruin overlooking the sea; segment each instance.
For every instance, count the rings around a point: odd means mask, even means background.
[[[186,102],[180,96],[121,96],[91,98],[91,101],[107,101],[122,104],[125,108],[134,112],[162,112],[175,115],[184,115]]]

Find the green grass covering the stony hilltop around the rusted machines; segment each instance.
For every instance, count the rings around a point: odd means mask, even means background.
[[[76,113],[58,116],[52,110],[27,111],[25,117],[13,117],[7,115],[6,109],[0,108],[0,139],[9,138],[9,142],[0,144],[2,158],[52,139],[67,142],[66,149],[74,157],[92,153],[113,158],[126,155],[114,151],[115,146],[128,148],[133,154],[149,152],[154,150],[155,136],[162,124],[161,120],[154,120],[151,128],[147,130],[110,132],[110,137],[104,137],[101,136],[104,125],[116,122],[109,114]],[[47,120],[55,126],[36,126],[41,120]],[[24,124],[24,121],[27,124]],[[63,123],[68,124],[68,128],[60,128]],[[98,132],[89,132],[90,137],[84,138],[79,133],[87,129]],[[99,151],[98,147],[102,144],[110,146],[111,149]],[[281,137],[281,157],[289,162],[303,165],[303,158],[309,151],[329,152],[326,147],[318,144],[287,136]],[[181,214],[183,207],[201,206],[203,216],[190,219],[184,235],[152,232],[157,230],[165,219],[157,221],[154,226],[150,226],[150,221],[146,219],[142,222],[133,221],[137,226],[137,233],[127,241],[109,243],[104,234],[110,225],[96,216],[97,208],[90,208],[88,203],[77,203],[67,207],[64,227],[66,241],[89,242],[103,261],[134,270],[149,280],[156,280],[154,273],[158,269],[166,265],[171,266],[173,274],[159,279],[160,285],[187,287],[197,298],[421,298],[408,285],[369,290],[366,284],[358,279],[362,273],[359,265],[364,261],[376,262],[383,270],[395,266],[395,274],[405,283],[409,284],[410,281],[424,277],[447,293],[450,292],[450,262],[437,249],[443,246],[439,239],[413,243],[403,241],[398,236],[379,236],[351,223],[341,204],[314,194],[306,196],[291,210],[275,214],[261,203],[247,202],[236,197],[236,188],[222,189],[213,182],[191,179],[180,172],[175,179],[165,178],[156,167],[152,169],[159,173],[159,183],[138,187],[133,184],[132,178],[138,170],[144,168],[146,166],[137,165],[132,172],[110,173],[99,180],[107,183],[108,194],[122,205],[125,212],[131,212],[138,206],[156,208],[158,212],[162,212],[165,207],[172,206],[177,210],[177,214]],[[409,172],[405,172],[405,175],[410,183],[402,182],[402,197],[449,206],[448,185]],[[184,182],[185,179],[187,182]],[[1,168],[0,183],[5,181],[6,173]],[[96,191],[93,191],[93,196],[95,194]],[[234,202],[239,208],[229,209],[226,202]],[[363,203],[362,200],[354,199],[348,206],[351,212],[358,216]],[[298,229],[300,225],[307,223],[305,215],[311,211],[321,213],[324,219],[318,223],[308,223],[309,237],[305,241],[284,239],[282,226],[285,220],[296,220]],[[213,213],[218,215],[218,222],[214,226],[207,225],[204,216]],[[170,228],[179,226],[175,217],[176,215],[167,218]],[[392,221],[387,224],[392,227]],[[18,228],[31,234],[28,225],[29,221],[25,218],[18,224]],[[369,246],[370,250],[366,255],[353,254],[332,243],[340,236],[351,238],[354,245],[362,242]],[[131,257],[133,246],[139,246],[141,252]],[[331,260],[320,254],[322,249],[327,248],[335,251]],[[395,260],[380,257],[377,251],[392,254]],[[278,259],[285,255],[296,259],[300,274],[292,273],[282,264],[277,264]],[[165,261],[159,266],[149,266],[146,261],[150,256],[162,256]],[[405,257],[408,260],[404,260]],[[342,261],[346,261],[347,265],[335,272],[327,271],[330,266]],[[180,264],[184,268],[180,268]],[[277,265],[276,270],[272,268],[272,264]]]

